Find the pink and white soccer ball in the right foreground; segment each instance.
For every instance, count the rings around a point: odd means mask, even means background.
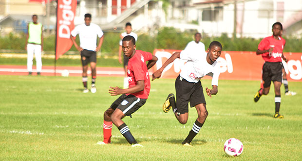
[[[243,144],[235,138],[230,138],[225,142],[224,150],[229,156],[239,156],[243,152]]]

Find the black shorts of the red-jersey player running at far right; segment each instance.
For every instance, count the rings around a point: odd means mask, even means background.
[[[269,87],[271,81],[282,82],[282,62],[265,62],[262,67],[264,88]]]

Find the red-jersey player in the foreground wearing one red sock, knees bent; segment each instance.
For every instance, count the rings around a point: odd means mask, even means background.
[[[142,146],[135,141],[128,126],[122,119],[125,116],[131,117],[131,114],[146,103],[151,87],[148,69],[156,63],[157,58],[149,52],[135,50],[135,48],[134,37],[125,36],[122,40],[122,50],[124,55],[129,57],[127,67],[129,88],[110,87],[109,93],[111,96],[122,95],[104,112],[104,141],[99,141],[97,144],[111,143],[112,123],[114,123],[120,133],[132,144],[132,147]],[[148,61],[148,64],[146,64],[146,61]]]

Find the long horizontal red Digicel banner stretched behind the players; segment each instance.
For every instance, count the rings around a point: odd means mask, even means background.
[[[173,52],[180,51],[155,49],[153,55],[158,58],[158,61],[152,67],[153,72],[159,69]],[[284,65],[287,80],[302,81],[302,53],[284,53],[284,55],[289,59]],[[221,71],[220,80],[262,80],[264,60],[261,55],[256,55],[256,52],[223,51],[217,61]],[[184,64],[184,60],[174,60],[165,68],[161,78],[176,78]]]

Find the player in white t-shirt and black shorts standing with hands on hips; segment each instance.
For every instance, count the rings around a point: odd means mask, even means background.
[[[84,93],[89,92],[87,89],[87,70],[88,63],[90,62],[92,83],[91,92],[96,92],[95,80],[96,80],[96,52],[101,49],[104,33],[101,28],[91,23],[91,14],[85,14],[85,23],[77,25],[75,29],[71,32],[71,40],[73,41],[76,49],[81,52],[81,60],[83,66],[82,82],[84,85]],[[79,34],[80,46],[76,43],[76,35]],[[96,46],[96,39],[99,38],[98,45]]]

